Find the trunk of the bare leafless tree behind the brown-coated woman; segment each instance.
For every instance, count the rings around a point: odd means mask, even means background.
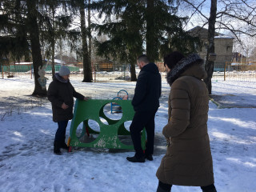
[[[209,18],[209,27],[208,27],[208,42],[209,46],[206,54],[206,72],[207,78],[204,79],[206,83],[209,94],[211,94],[211,78],[214,73],[214,61],[209,61],[209,54],[214,53],[214,35],[215,35],[215,22],[216,22],[216,12],[217,12],[217,0],[211,0],[210,5],[210,18]]]

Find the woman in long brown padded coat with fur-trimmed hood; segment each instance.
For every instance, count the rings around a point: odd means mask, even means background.
[[[172,185],[201,186],[216,192],[210,140],[207,133],[208,90],[203,60],[198,54],[184,57],[175,51],[165,57],[171,86],[169,121],[162,134],[168,142],[166,155],[157,171],[157,192],[170,191]]]

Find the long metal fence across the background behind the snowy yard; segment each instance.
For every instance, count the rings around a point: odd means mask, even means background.
[[[83,79],[82,63],[69,63],[71,74],[70,78],[78,81]],[[157,63],[158,69],[162,74],[162,80],[166,78],[166,71],[162,62]],[[55,71],[59,70],[60,65],[55,65]],[[34,78],[32,63],[27,64],[2,64],[0,68],[2,78]],[[138,77],[139,69],[136,68]],[[130,81],[130,65],[114,65],[113,63],[101,63],[92,65],[93,82],[122,82]],[[46,67],[46,78],[52,80],[51,66]],[[256,82],[256,65],[246,65],[244,63],[215,63],[212,80],[218,81],[244,81]]]

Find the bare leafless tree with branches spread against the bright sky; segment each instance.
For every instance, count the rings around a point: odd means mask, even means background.
[[[206,86],[211,94],[211,78],[214,62],[209,61],[209,54],[214,53],[215,30],[229,30],[242,42],[241,35],[256,36],[256,2],[254,0],[211,0],[210,14],[206,10],[206,0],[182,0],[184,7],[192,8],[190,18],[198,17],[202,26],[208,26],[208,49],[206,55]],[[191,22],[192,19],[190,19]]]

